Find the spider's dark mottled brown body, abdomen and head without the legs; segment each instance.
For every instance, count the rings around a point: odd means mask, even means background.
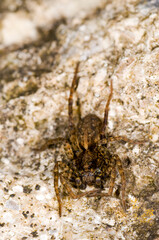
[[[77,125],[77,139],[80,151],[74,157],[74,168],[71,176],[72,185],[75,188],[85,189],[88,186],[103,188],[106,179],[105,160],[111,157],[106,150],[102,159],[101,147],[99,146],[102,121],[94,114],[88,114]],[[102,162],[101,162],[102,160]],[[104,166],[102,166],[104,163]],[[108,164],[107,164],[108,165]]]

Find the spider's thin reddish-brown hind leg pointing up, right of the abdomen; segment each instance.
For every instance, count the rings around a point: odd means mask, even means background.
[[[107,127],[108,124],[108,113],[109,113],[109,105],[110,105],[110,101],[111,98],[113,96],[113,81],[110,81],[110,93],[109,93],[109,97],[105,106],[105,113],[104,113],[104,120],[103,120],[103,126],[102,126],[102,130],[101,130],[101,138],[105,138],[105,129]]]

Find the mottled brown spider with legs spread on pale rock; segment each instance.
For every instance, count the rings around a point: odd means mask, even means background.
[[[109,104],[113,94],[113,84],[110,82],[110,94],[105,107],[104,120],[102,121],[95,114],[88,114],[81,118],[80,104],[78,99],[79,122],[75,126],[73,121],[73,93],[79,83],[77,77],[79,62],[76,65],[70,96],[68,100],[69,115],[69,136],[67,139],[60,139],[64,144],[66,158],[61,162],[55,161],[54,166],[54,188],[59,204],[59,216],[62,214],[62,202],[58,187],[59,179],[68,194],[73,199],[83,196],[112,196],[116,167],[121,176],[121,199],[122,206],[125,208],[125,175],[121,160],[118,155],[111,154],[107,148],[107,138],[105,130],[108,123]],[[56,139],[54,141],[56,142]],[[49,142],[48,142],[49,144]],[[60,171],[59,171],[60,170]],[[105,182],[110,178],[108,193],[103,193]],[[81,192],[88,186],[94,186],[92,191]],[[79,191],[75,193],[72,187]]]

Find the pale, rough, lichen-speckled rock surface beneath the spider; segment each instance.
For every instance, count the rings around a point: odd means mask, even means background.
[[[159,238],[158,7],[158,1],[0,3],[2,239]],[[73,200],[62,194],[59,218],[52,174],[57,149],[33,150],[68,132],[77,61],[82,116],[103,118],[113,79],[107,130],[131,139],[109,143],[125,169],[126,213],[119,198]],[[114,196],[119,192],[117,176]]]

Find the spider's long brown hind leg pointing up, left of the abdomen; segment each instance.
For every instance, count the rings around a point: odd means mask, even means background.
[[[78,83],[79,83],[79,78],[77,77],[78,69],[79,69],[79,62],[77,62],[76,67],[75,67],[74,77],[73,77],[73,81],[72,81],[72,85],[71,85],[71,89],[70,89],[70,96],[69,96],[69,100],[68,100],[68,116],[69,116],[70,127],[74,126],[74,123],[73,123],[73,93],[74,93],[74,91],[76,91],[76,89],[78,87]]]

